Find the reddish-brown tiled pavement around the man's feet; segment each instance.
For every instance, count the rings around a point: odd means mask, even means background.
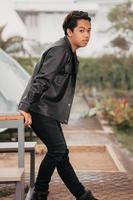
[[[77,172],[80,181],[99,200],[133,200],[133,180],[122,172]],[[49,200],[74,200],[57,174],[54,174]]]

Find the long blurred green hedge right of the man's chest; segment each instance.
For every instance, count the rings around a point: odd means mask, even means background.
[[[98,89],[133,89],[133,56],[80,59],[78,82]]]

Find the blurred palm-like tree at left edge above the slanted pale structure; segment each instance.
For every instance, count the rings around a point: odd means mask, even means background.
[[[0,26],[0,48],[7,53],[15,53],[23,51],[23,38],[20,36],[12,36],[8,39],[3,39],[4,26]]]

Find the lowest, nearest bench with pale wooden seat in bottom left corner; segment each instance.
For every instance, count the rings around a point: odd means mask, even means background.
[[[16,184],[15,200],[24,199],[24,168],[0,168],[0,184]]]

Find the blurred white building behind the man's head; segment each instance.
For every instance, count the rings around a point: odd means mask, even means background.
[[[110,23],[109,10],[126,0],[14,0],[14,8],[27,27],[27,39],[51,43],[64,35],[62,22],[71,10],[84,10],[92,17],[90,44],[79,50],[80,56],[95,56],[107,49],[112,35],[103,33]]]

